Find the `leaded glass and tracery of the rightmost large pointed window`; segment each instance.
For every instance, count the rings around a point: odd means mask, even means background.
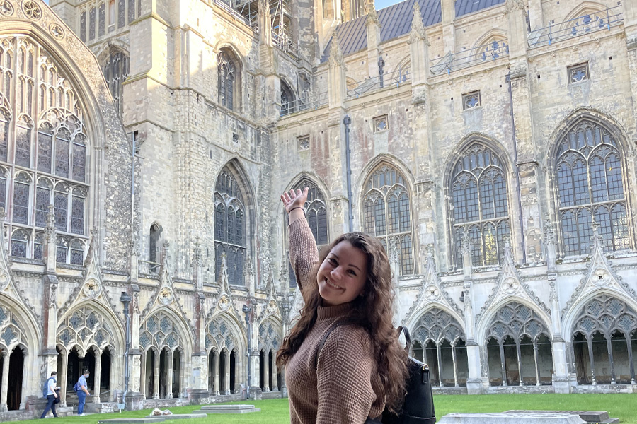
[[[619,146],[597,122],[582,119],[559,141],[556,180],[563,254],[590,253],[592,221],[609,250],[630,248]]]

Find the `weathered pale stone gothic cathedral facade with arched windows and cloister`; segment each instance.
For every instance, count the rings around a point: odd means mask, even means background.
[[[436,391],[637,391],[633,1],[0,0],[0,81],[2,419],[286,396],[302,187]]]

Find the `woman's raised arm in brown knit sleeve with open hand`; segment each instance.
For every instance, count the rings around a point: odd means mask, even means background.
[[[281,195],[281,201],[288,213],[289,260],[301,290],[311,283],[312,270],[319,261],[316,241],[305,218],[304,205],[308,190],[290,190]]]

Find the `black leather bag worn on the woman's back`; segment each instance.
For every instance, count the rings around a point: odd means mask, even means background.
[[[405,333],[406,351],[409,353],[411,337],[404,326],[398,327],[398,336]],[[409,356],[407,358],[407,393],[403,401],[403,408],[398,415],[390,413],[387,408],[383,411],[383,424],[434,424],[436,413],[433,404],[433,392],[429,366]]]

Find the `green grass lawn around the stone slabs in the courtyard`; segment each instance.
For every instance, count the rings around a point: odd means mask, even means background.
[[[509,409],[543,409],[555,411],[608,411],[612,418],[619,418],[621,424],[637,424],[637,394],[489,394],[483,396],[435,396],[436,416],[452,412],[502,412]],[[287,399],[267,401],[241,401],[234,404],[253,404],[261,408],[260,413],[211,415],[208,418],[171,421],[176,424],[207,423],[289,423]],[[173,413],[190,413],[200,406],[180,406],[170,408]],[[94,414],[90,416],[61,418],[64,423],[96,424],[98,420],[120,417],[143,417],[150,410]]]

